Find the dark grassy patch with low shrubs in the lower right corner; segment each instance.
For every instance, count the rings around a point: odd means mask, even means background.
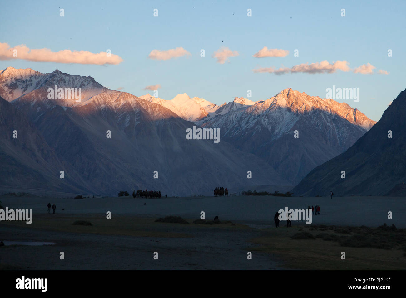
[[[313,238],[299,237],[292,239],[299,229],[309,233]],[[323,229],[323,233],[320,233]],[[338,229],[348,229],[347,233],[337,233]],[[311,232],[309,232],[311,230]],[[393,230],[394,234],[381,234],[383,229],[369,229],[366,227],[292,227],[290,229],[266,229],[264,235],[254,238],[251,242],[259,247],[250,248],[252,251],[263,251],[277,255],[287,268],[303,270],[404,270],[406,268],[405,246],[403,231]],[[327,232],[326,232],[327,231]],[[397,231],[397,232],[396,232]],[[384,231],[388,232],[388,231]],[[362,234],[355,234],[362,233]],[[397,233],[397,234],[396,234]],[[365,238],[363,234],[376,234],[380,238]],[[308,235],[307,235],[308,236]],[[351,242],[358,239],[358,242]],[[374,239],[374,240],[371,240]],[[378,240],[377,240],[378,239]],[[392,239],[393,249],[372,247],[374,241]],[[372,241],[372,242],[371,242]],[[362,245],[359,243],[362,242]],[[385,242],[382,242],[385,243]],[[350,245],[350,246],[344,246]],[[346,253],[346,259],[341,259],[341,252]]]

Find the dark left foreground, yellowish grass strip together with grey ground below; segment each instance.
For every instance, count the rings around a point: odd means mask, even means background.
[[[282,268],[274,261],[277,258],[266,252],[253,252],[253,258],[247,259],[248,247],[256,246],[248,241],[262,233],[243,225],[155,223],[153,219],[129,216],[110,221],[104,218],[104,214],[101,217],[80,217],[91,221],[93,226],[72,225],[79,218],[70,216],[48,219],[41,216],[29,228],[22,224],[2,225],[1,237],[4,240],[56,244],[0,247],[0,266],[2,269],[38,270]],[[64,260],[59,258],[61,251],[65,253]],[[154,252],[158,252],[158,260],[153,259]]]

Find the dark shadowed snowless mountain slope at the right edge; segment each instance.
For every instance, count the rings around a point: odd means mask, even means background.
[[[298,195],[406,196],[406,90],[354,145],[313,169],[294,189]],[[343,173],[345,172],[345,178]]]

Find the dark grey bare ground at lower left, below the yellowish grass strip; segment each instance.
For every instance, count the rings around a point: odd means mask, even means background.
[[[247,259],[247,240],[258,231],[187,229],[194,237],[157,238],[95,234],[75,234],[19,227],[1,232],[5,239],[52,240],[49,246],[0,248],[3,263],[37,270],[269,270],[278,269],[266,253],[253,252]],[[172,228],[171,228],[172,230]],[[17,236],[18,235],[18,236]],[[60,260],[60,252],[65,260]],[[153,253],[158,252],[158,260]]]

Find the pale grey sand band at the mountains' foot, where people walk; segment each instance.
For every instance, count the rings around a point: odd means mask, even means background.
[[[273,217],[279,209],[303,209],[307,206],[320,206],[320,216],[313,216],[313,224],[325,225],[366,225],[377,227],[384,222],[398,228],[406,228],[406,198],[404,197],[183,197],[167,199],[133,199],[132,197],[61,199],[4,197],[3,206],[13,209],[32,209],[34,214],[47,212],[48,202],[55,203],[60,214],[134,214],[142,217],[177,215],[199,218],[205,212],[206,219],[218,216],[220,220],[230,220],[253,227],[273,225]],[[144,202],[147,205],[144,205]],[[65,209],[62,211],[61,209]],[[388,219],[388,212],[393,219]],[[295,222],[295,224],[303,224]]]

